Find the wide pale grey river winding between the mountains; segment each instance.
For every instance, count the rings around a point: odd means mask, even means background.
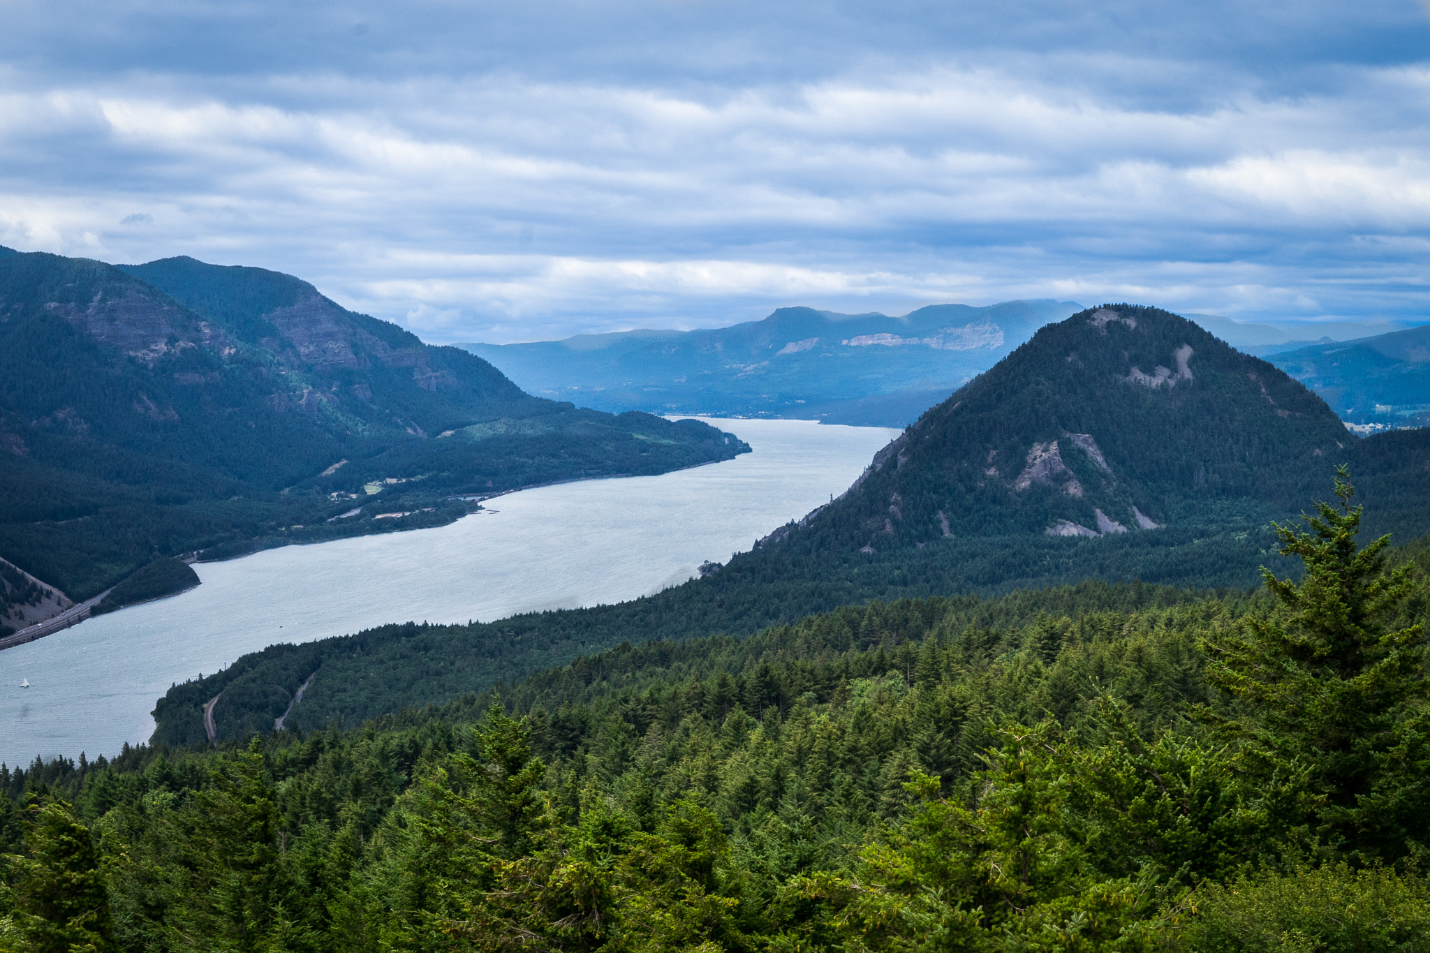
[[[114,754],[154,700],[277,642],[389,622],[490,622],[615,603],[725,562],[842,493],[898,436],[804,420],[711,420],[754,453],[655,477],[496,497],[450,526],[194,566],[203,584],[0,652],[0,760]],[[30,687],[20,682],[29,679]]]

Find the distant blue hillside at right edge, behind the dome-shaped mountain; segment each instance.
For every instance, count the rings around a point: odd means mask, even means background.
[[[1430,324],[1301,347],[1268,360],[1347,420],[1390,426],[1430,423]]]

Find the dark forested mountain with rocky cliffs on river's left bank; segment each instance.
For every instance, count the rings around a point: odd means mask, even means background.
[[[458,494],[744,449],[531,397],[286,274],[0,256],[0,556],[74,600],[159,556],[435,524]]]

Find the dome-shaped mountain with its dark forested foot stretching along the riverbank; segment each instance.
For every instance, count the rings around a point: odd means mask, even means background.
[[[706,579],[473,626],[273,646],[176,686],[156,739],[360,722],[619,644],[749,634],[871,599],[1141,579],[1253,586],[1270,522],[1353,467],[1373,532],[1430,532],[1430,431],[1361,440],[1304,386],[1167,311],[1107,306],[1038,331],[930,410],[848,493]]]

